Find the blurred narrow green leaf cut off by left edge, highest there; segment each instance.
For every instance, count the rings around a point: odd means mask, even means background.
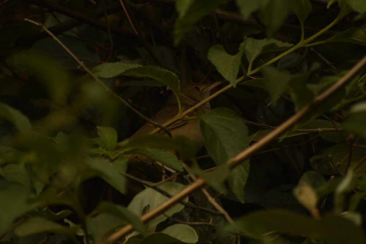
[[[30,131],[32,128],[29,119],[24,116],[19,110],[16,110],[1,102],[0,117],[10,121],[20,133]]]

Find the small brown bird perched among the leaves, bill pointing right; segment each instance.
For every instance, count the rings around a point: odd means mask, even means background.
[[[190,83],[188,85],[182,86],[180,88],[180,102],[184,110],[194,106],[198,102],[207,98],[210,95],[210,91],[213,88],[217,87],[220,83],[221,82],[216,82],[212,85]],[[210,104],[209,102],[207,102],[203,106],[200,106],[199,108],[195,109],[193,112],[188,114],[188,116],[196,117],[199,115],[203,115],[204,113],[207,113],[209,110],[210,110]],[[159,112],[157,112],[151,118],[151,120],[159,124],[164,124],[168,120],[178,115],[178,112],[179,112],[178,102],[176,100],[176,97],[172,95],[169,98],[165,107],[161,109]],[[138,129],[138,131],[136,131],[135,134],[132,136],[147,134],[153,131],[155,128],[156,127],[154,125],[147,122],[140,129]],[[201,149],[201,147],[203,146],[203,136],[199,128],[198,119],[178,120],[175,121],[173,124],[168,125],[167,129],[169,130],[169,132],[172,134],[173,137],[176,135],[183,135],[190,138],[194,142],[197,151]],[[160,131],[159,133],[165,134],[165,132],[163,131]],[[138,168],[142,167],[145,169],[151,167],[152,162],[151,158],[142,155],[137,156],[138,157],[131,155],[130,157],[128,157],[130,159],[129,161],[130,166],[133,166],[133,168],[135,168],[138,165]]]

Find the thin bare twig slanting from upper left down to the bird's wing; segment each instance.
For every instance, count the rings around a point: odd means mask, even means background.
[[[149,123],[153,124],[154,126],[162,129],[165,133],[167,133],[167,135],[169,135],[170,137],[172,136],[172,134],[168,131],[167,128],[165,128],[164,126],[150,120],[149,118],[147,118],[145,115],[143,115],[142,113],[138,112],[136,109],[134,109],[130,104],[128,104],[128,102],[124,101],[119,95],[117,95],[114,91],[112,91],[107,85],[105,85],[104,82],[102,82],[97,76],[95,76],[86,66],[85,64],[80,61],[78,59],[78,57],[76,57],[74,55],[74,53],[72,53],[70,51],[70,49],[68,49],[60,40],[59,38],[57,38],[54,34],[52,34],[46,27],[44,27],[44,25],[42,25],[41,23],[37,23],[33,20],[30,19],[25,19],[26,21],[33,23],[34,25],[40,26],[42,29],[44,29],[49,35],[51,35],[51,37],[62,46],[63,49],[66,50],[66,52],[75,60],[78,62],[78,64],[91,76],[93,77],[101,86],[103,86],[105,88],[105,90],[107,90],[109,93],[111,93],[113,95],[113,97],[117,98],[117,100],[119,100],[120,102],[122,102],[124,105],[126,105],[128,108],[130,108],[134,113],[136,113],[138,116],[140,116],[142,119],[148,121]]]

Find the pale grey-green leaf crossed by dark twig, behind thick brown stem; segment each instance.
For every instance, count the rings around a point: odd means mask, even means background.
[[[175,195],[178,192],[180,192],[182,189],[184,189],[185,185],[175,183],[175,182],[166,182],[164,184],[159,185],[158,188],[162,189],[163,191],[167,192],[170,195]],[[130,204],[128,204],[127,209],[129,211],[131,211],[132,213],[134,213],[135,215],[141,216],[143,213],[145,213],[146,209],[152,210],[152,209],[156,208],[158,205],[160,205],[161,203],[165,202],[166,200],[168,200],[167,196],[164,196],[163,194],[161,194],[160,192],[158,192],[152,188],[147,188],[147,189],[143,190],[142,192],[139,192],[139,194],[137,194],[132,199]],[[185,202],[187,202],[187,200],[188,200],[188,197],[183,199],[183,201],[185,201]],[[174,204],[168,210],[164,211],[164,214],[160,214],[157,217],[150,220],[148,222],[147,229],[153,228],[160,222],[167,219],[167,217],[182,210],[183,207],[184,207],[184,205],[182,205],[180,203]]]

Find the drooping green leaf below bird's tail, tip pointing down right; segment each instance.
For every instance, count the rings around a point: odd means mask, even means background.
[[[82,181],[101,177],[122,194],[126,194],[126,178],[115,169],[107,159],[91,158],[85,161],[86,168],[80,176]]]

